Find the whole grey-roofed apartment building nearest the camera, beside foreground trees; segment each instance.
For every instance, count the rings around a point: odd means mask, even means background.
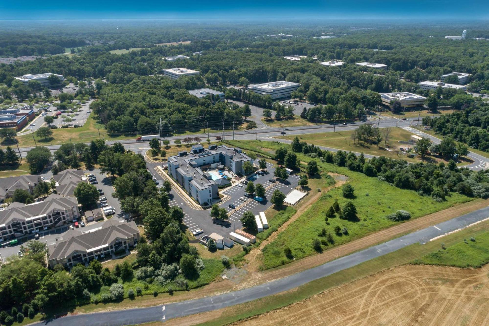
[[[88,265],[93,259],[115,259],[116,255],[129,254],[139,240],[139,229],[134,221],[125,222],[111,218],[100,227],[85,231],[69,230],[63,238],[47,247],[49,267],[76,264]]]

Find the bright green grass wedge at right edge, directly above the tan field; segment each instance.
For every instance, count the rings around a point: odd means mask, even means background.
[[[489,232],[473,238],[467,236],[464,240],[415,259],[412,263],[465,268],[481,267],[489,262]]]

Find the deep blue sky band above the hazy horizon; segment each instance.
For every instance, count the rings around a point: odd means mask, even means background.
[[[484,8],[484,10],[481,10]],[[0,20],[175,18],[489,19],[487,0],[0,0]]]

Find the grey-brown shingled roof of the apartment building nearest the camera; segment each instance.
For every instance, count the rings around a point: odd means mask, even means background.
[[[121,223],[115,218],[105,221],[101,224],[101,229],[93,232],[83,233],[81,229],[69,230],[63,235],[63,240],[48,247],[48,260],[65,258],[74,251],[85,253],[90,249],[111,244],[117,238],[127,240],[138,233],[134,221]]]

